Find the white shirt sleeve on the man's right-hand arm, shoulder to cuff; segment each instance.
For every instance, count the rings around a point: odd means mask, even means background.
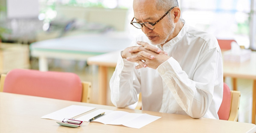
[[[219,84],[216,82],[223,82],[223,77],[219,75],[222,72],[219,52],[217,48],[213,48],[202,53],[192,77],[172,57],[157,67],[177,103],[192,118],[204,116],[212,102],[215,84]]]

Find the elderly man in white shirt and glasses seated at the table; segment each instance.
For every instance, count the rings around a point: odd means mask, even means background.
[[[145,35],[120,54],[112,103],[127,107],[141,92],[143,110],[218,119],[223,71],[216,38],[186,25],[177,0],[134,0],[133,8],[131,24]]]

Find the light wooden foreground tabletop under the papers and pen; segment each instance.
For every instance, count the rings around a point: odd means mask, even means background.
[[[41,116],[70,105],[96,107],[96,110],[107,109],[123,110],[130,113],[147,113],[162,118],[140,129],[105,125],[98,122],[84,122],[81,127],[72,128],[59,126],[55,120],[41,119]],[[0,123],[0,133],[256,133],[256,125],[250,123],[207,118],[192,119],[189,116],[177,114],[118,109],[112,106],[12,93],[0,93]]]

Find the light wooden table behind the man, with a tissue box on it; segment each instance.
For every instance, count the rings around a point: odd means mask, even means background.
[[[87,63],[90,65],[98,65],[99,66],[99,103],[106,104],[107,98],[107,77],[108,67],[116,67],[116,62],[118,59],[118,54],[120,51],[110,52],[103,55],[94,56],[88,58]],[[234,63],[223,60],[223,75],[224,77],[231,78],[248,78],[253,79],[253,109],[252,109],[252,123],[256,124],[256,52],[252,52],[251,58],[249,61],[245,61],[243,63]],[[233,86],[236,90],[236,82],[234,82]]]

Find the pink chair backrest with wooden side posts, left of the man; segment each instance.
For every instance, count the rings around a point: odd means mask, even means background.
[[[83,102],[88,102],[91,86],[90,82],[81,83],[78,75],[74,73],[29,69],[13,69],[6,76],[3,75],[3,78],[1,75],[0,83],[3,86],[0,90],[6,93]]]

